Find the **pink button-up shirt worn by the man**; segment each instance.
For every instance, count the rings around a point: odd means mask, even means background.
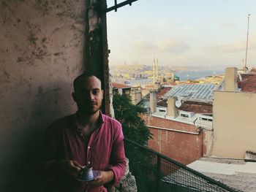
[[[80,135],[75,114],[56,120],[47,130],[44,161],[75,160],[82,166],[91,164],[93,170],[112,170],[112,184],[118,183],[126,169],[121,124],[101,112],[99,118],[100,126],[90,138]],[[88,186],[67,175],[59,175],[48,188],[69,192],[106,191],[103,186]]]

